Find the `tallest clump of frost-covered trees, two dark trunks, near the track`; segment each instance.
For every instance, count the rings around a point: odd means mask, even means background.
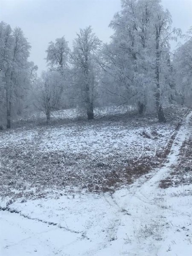
[[[110,23],[111,44],[105,46],[108,73],[117,95],[138,105],[142,113],[154,102],[159,122],[165,122],[162,94],[169,90],[169,41],[180,30],[171,29],[172,19],[160,0],[122,0],[122,10]]]

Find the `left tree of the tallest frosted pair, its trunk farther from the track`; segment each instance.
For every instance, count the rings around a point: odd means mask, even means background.
[[[151,12],[151,1],[122,0],[121,12],[110,23],[115,31],[111,44],[105,46],[108,73],[114,77],[116,94],[121,95],[123,103],[138,105],[140,113],[151,90],[148,79],[151,75],[148,60]]]

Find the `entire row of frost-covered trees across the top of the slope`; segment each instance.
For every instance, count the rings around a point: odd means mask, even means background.
[[[22,31],[0,23],[1,124],[7,128],[18,114],[41,110],[49,122],[52,111],[84,108],[94,118],[94,106],[135,105],[138,112],[157,111],[166,122],[163,105],[190,105],[192,38],[175,54],[170,41],[181,36],[160,0],[121,0],[122,9],[110,23],[114,33],[102,44],[91,27],[80,29],[71,51],[64,36],[50,42],[47,67],[40,78],[28,61],[30,46]],[[6,117],[6,118],[5,118]]]

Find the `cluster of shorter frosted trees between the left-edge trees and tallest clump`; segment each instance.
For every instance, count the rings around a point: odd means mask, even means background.
[[[43,72],[32,89],[34,105],[43,111],[49,122],[51,111],[81,107],[87,118],[94,118],[94,103],[99,83],[99,50],[102,42],[91,27],[80,29],[70,51],[64,36],[50,42],[47,52],[47,72]]]

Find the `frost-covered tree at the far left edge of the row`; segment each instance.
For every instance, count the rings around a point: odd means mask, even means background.
[[[28,61],[30,48],[20,28],[12,31],[9,25],[0,23],[0,72],[7,128],[11,127],[13,117],[20,113],[18,106],[25,99],[32,64]]]

